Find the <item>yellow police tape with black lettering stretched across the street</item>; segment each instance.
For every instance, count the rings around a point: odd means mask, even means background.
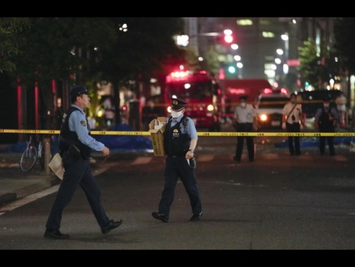
[[[49,133],[59,134],[59,130],[21,130],[21,129],[0,129],[0,133]],[[91,134],[107,136],[150,136],[149,131],[91,131]],[[355,136],[355,133],[336,132],[336,133],[289,133],[289,132],[197,132],[198,136]]]

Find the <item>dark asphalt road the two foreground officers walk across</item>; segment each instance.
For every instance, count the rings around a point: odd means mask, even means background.
[[[292,157],[274,142],[256,137],[255,162],[248,162],[245,152],[236,164],[236,138],[199,138],[196,176],[203,217],[196,222],[189,221],[182,183],[169,222],[151,215],[163,188],[164,157],[131,152],[100,159],[93,171],[102,202],[111,219],[123,219],[122,226],[102,235],[78,188],[60,228],[71,238],[46,240],[51,191],[1,215],[0,249],[355,249],[355,153],[337,145],[335,157],[321,156],[314,147]]]

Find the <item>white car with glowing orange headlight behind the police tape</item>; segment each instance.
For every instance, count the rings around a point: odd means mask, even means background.
[[[281,91],[260,94],[255,105],[259,129],[281,130],[282,110],[288,100],[290,100],[288,93]]]

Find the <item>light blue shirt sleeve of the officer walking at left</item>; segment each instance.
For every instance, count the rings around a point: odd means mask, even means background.
[[[72,106],[79,108],[80,111],[74,110],[72,115],[70,115],[68,122],[70,131],[75,131],[78,135],[79,141],[84,145],[87,145],[93,150],[102,151],[105,148],[105,145],[96,141],[95,138],[88,134],[88,126],[86,125],[88,121],[86,120],[85,113],[79,106],[74,104]]]

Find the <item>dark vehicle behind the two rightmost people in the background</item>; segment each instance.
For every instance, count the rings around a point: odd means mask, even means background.
[[[318,108],[323,107],[323,99],[328,97],[330,99],[330,106],[336,108],[335,98],[340,95],[339,90],[314,90],[314,91],[297,91],[297,100],[302,104],[302,112],[306,119],[314,118]]]

